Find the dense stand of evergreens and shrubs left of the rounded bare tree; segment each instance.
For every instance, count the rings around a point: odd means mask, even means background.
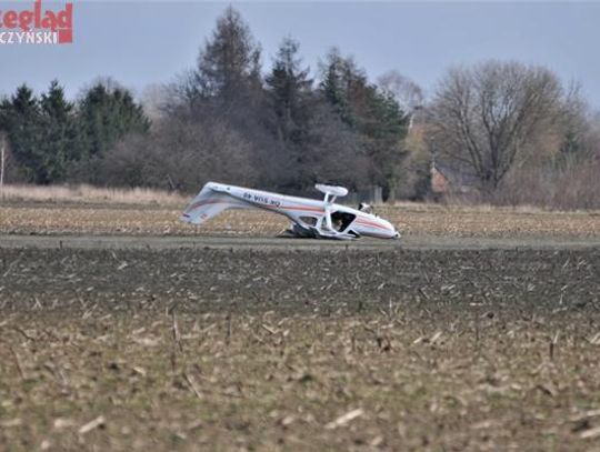
[[[330,51],[318,81],[284,39],[263,73],[260,46],[228,8],[196,68],[164,88],[152,123],[122,88],[98,83],[70,103],[52,82],[0,104],[20,177],[186,192],[209,179],[301,191],[317,181],[393,193],[409,115],[350,57]]]

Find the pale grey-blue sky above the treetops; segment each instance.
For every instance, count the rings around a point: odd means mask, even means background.
[[[24,4],[0,1],[0,10]],[[74,97],[99,76],[138,94],[191,68],[229,2],[76,1],[71,46],[0,46],[0,94],[57,78]],[[267,68],[281,39],[300,41],[317,69],[332,46],[376,80],[397,69],[428,94],[451,64],[514,59],[582,83],[600,109],[600,2],[232,2],[263,49]]]

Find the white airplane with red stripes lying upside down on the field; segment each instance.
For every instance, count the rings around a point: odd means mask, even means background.
[[[208,182],[186,208],[180,220],[202,224],[226,209],[256,208],[290,219],[292,225],[289,232],[293,237],[336,240],[352,240],[362,235],[400,238],[389,221],[371,213],[369,205],[352,209],[333,203],[336,198],[348,194],[343,187],[320,183],[314,187],[324,193],[322,201]]]

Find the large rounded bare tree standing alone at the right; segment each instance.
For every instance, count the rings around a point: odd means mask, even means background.
[[[561,99],[561,83],[546,68],[489,61],[450,69],[430,111],[436,149],[493,191],[536,137],[557,121]]]

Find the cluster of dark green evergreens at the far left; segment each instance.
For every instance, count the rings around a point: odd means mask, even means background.
[[[107,81],[77,102],[58,81],[36,97],[26,84],[0,102],[0,130],[9,142],[13,181],[49,184],[88,181],[90,162],[129,133],[147,133],[150,121],[131,93]]]

